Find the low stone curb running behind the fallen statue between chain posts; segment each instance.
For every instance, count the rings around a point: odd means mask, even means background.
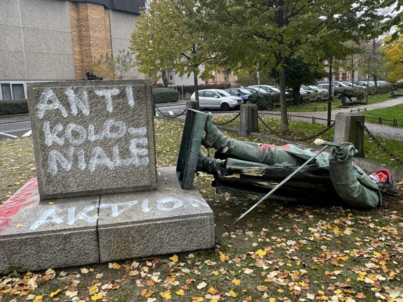
[[[179,120],[176,118],[167,118],[165,116],[154,116],[154,118],[157,119],[162,119],[162,120],[170,120],[172,122],[180,122],[184,123],[185,120]],[[237,133],[239,134],[239,129],[227,127],[227,126],[217,126],[217,128],[220,131],[226,131],[229,133]],[[320,150],[316,145],[310,145],[307,143],[302,143],[302,142],[296,142],[296,141],[289,141],[287,139],[281,139],[280,137],[275,137],[274,135],[266,134],[266,133],[260,133],[260,132],[251,132],[250,134],[251,137],[256,137],[257,139],[261,139],[262,141],[269,141],[270,143],[282,146],[282,145],[287,145],[287,144],[294,144],[297,146],[305,147],[305,148],[310,148],[310,149],[315,149],[315,150]],[[361,168],[368,172],[375,172],[379,169],[387,169],[389,172],[391,172],[392,176],[395,178],[395,180],[400,181],[403,180],[403,170],[397,169],[397,168],[392,168],[389,167],[388,165],[382,165],[381,163],[377,163],[375,161],[369,160],[369,159],[364,159],[361,157],[354,157],[353,161],[357,163]]]

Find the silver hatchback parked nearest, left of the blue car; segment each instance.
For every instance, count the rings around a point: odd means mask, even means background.
[[[195,93],[190,97],[195,101]],[[203,89],[199,90],[199,108],[221,108],[224,111],[230,109],[239,109],[243,100],[238,96],[232,96],[221,89]]]

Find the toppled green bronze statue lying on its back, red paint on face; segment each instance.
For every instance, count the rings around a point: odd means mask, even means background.
[[[204,130],[208,147],[218,150],[217,158],[202,151],[197,171],[215,176],[220,192],[236,196],[261,197],[295,171],[316,152],[296,145],[281,147],[237,141],[220,132],[208,113]],[[311,164],[286,182],[276,199],[342,199],[355,208],[368,209],[382,204],[382,194],[392,195],[396,182],[386,169],[369,176],[352,162],[356,154],[351,143],[320,153]]]

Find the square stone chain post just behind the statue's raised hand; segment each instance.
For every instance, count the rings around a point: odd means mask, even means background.
[[[364,124],[364,115],[361,113],[339,112],[336,114],[333,141],[352,143],[358,150],[357,156],[364,158],[364,129],[359,124],[359,120]]]

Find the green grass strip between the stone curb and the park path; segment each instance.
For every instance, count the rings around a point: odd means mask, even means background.
[[[225,122],[226,120],[230,120],[231,118],[233,118],[233,116],[214,116],[213,121],[222,123]],[[264,121],[272,129],[281,132],[281,120],[279,118],[264,118]],[[239,128],[239,119],[234,120],[227,126],[231,126],[233,128]],[[326,128],[326,126],[322,124],[312,124],[308,122],[293,121],[293,120],[289,121],[289,127],[291,133],[288,139],[291,141],[293,140],[301,141],[301,138],[312,136]],[[260,122],[260,120],[259,120],[259,129],[260,132],[276,135],[274,133],[270,133],[270,131],[265,128],[265,126],[262,124],[262,122]],[[333,135],[334,135],[334,129],[330,129],[328,132],[325,132],[319,138],[324,139],[325,141],[333,141]],[[382,137],[377,137],[377,139],[388,150],[390,150],[392,153],[395,153],[396,156],[403,157],[402,156],[403,142],[393,141],[391,139],[384,139]],[[313,141],[314,139],[311,141],[305,141],[305,143],[313,143]],[[378,163],[389,165],[394,168],[400,168],[400,169],[403,168],[403,165],[396,162],[395,159],[389,157],[389,155],[384,153],[384,151],[380,149],[378,145],[376,145],[374,141],[372,141],[372,139],[370,139],[368,134],[364,134],[364,150],[366,154],[365,157],[367,159],[377,161]]]

